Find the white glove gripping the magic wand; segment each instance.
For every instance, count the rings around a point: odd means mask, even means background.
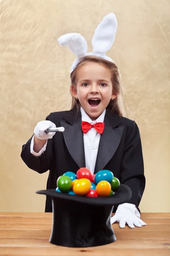
[[[37,123],[37,125],[34,128],[34,134],[40,140],[51,139],[54,136],[55,132],[46,133],[45,131],[48,128],[56,128],[56,125],[49,120],[40,121]]]

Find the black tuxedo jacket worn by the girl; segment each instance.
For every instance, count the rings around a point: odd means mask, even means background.
[[[48,140],[47,148],[40,157],[30,153],[31,139],[23,145],[21,157],[26,165],[38,173],[47,172],[47,189],[57,187],[57,178],[65,172],[74,172],[85,167],[81,112],[54,112],[46,120],[54,122],[56,127],[64,126],[65,131],[56,132]],[[144,187],[144,164],[139,129],[136,123],[125,117],[117,116],[106,110],[105,129],[100,137],[94,173],[108,169],[113,175],[132,190],[132,197],[127,203],[137,207],[141,201]],[[116,211],[114,207],[113,211]],[[138,208],[139,209],[139,208]],[[45,212],[52,212],[51,198],[46,198]]]

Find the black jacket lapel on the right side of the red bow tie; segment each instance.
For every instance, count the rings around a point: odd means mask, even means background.
[[[124,126],[116,127],[122,120],[119,116],[111,113],[110,110],[106,111],[104,122],[105,129],[100,137],[94,173],[104,169],[111,160],[119,146],[124,131]]]

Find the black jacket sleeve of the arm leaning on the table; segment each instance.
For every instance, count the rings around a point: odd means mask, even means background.
[[[145,188],[144,163],[139,128],[134,121],[130,126],[126,134],[120,181],[132,191],[127,203],[135,204],[138,208]]]

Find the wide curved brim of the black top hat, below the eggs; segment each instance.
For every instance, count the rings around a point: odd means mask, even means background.
[[[55,189],[38,190],[37,194],[48,195],[52,198],[61,198],[63,200],[71,200],[76,202],[81,202],[84,204],[93,205],[116,205],[123,204],[130,200],[132,192],[131,189],[123,184],[120,184],[119,188],[116,190],[115,194],[107,197],[97,197],[91,198],[79,195],[69,195],[67,193],[56,192]]]

